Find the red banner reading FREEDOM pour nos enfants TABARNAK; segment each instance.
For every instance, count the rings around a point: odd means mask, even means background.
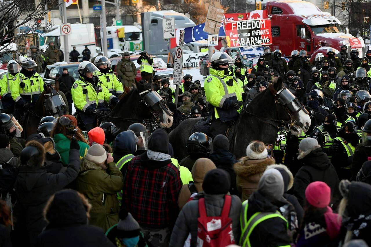
[[[224,23],[228,47],[265,46],[272,44],[270,19],[242,20]]]

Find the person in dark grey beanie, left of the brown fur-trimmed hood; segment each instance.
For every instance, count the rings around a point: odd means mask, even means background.
[[[217,168],[225,170],[229,174],[231,187],[229,192],[232,195],[240,195],[236,187],[236,173],[233,170],[233,165],[237,163],[236,156],[229,151],[229,140],[226,136],[219,134],[213,140],[214,152],[209,158],[214,162]]]

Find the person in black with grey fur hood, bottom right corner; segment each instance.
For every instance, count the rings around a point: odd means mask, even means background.
[[[371,246],[371,185],[362,182],[341,180],[339,190],[343,198],[339,206],[342,216],[340,236],[344,243],[354,239],[363,239]],[[345,232],[346,231],[346,232]]]

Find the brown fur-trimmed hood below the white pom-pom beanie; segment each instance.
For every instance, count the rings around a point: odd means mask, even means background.
[[[267,166],[274,164],[274,158],[266,158],[260,160],[250,160],[248,157],[240,158],[239,162],[234,164],[233,169],[237,176],[248,179],[255,174],[263,173]]]

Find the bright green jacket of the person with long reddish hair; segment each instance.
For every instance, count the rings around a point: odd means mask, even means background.
[[[69,160],[69,146],[71,140],[63,134],[55,134],[53,139],[55,142],[55,148],[60,154],[60,161],[62,161],[63,165],[67,166]],[[80,158],[83,158],[86,156],[86,153],[88,152],[89,145],[83,141],[78,141],[78,143],[80,145]]]

